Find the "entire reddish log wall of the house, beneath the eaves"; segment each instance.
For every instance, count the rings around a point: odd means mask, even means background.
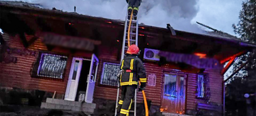
[[[26,35],[26,39],[31,39],[33,36]],[[17,36],[9,36],[7,33],[3,34],[3,39],[7,42],[7,45],[11,48],[18,48],[18,49],[24,49],[24,46],[22,45],[22,42],[20,40],[20,37]],[[41,43],[40,38],[37,39],[34,44],[30,45],[28,50],[39,52],[39,51],[47,51],[47,47]],[[98,75],[96,78],[96,86],[94,90],[94,98],[101,98],[101,99],[107,99],[107,100],[113,100],[116,99],[116,90],[115,88],[108,88],[108,87],[101,87],[99,86],[99,79],[101,77],[101,70],[103,62],[111,62],[111,63],[117,63],[119,64],[119,58],[120,55],[118,49],[115,47],[108,48],[107,46],[101,45],[99,46],[99,55],[98,58],[100,59],[99,69],[98,69]],[[111,50],[111,51],[109,51]],[[52,52],[56,53],[65,53],[67,51],[60,51],[60,50],[53,50]],[[77,53],[79,54],[79,53]],[[67,86],[67,79],[68,74],[72,62],[72,58],[74,56],[83,56],[83,57],[89,57],[91,53],[85,53],[87,55],[77,55],[77,54],[71,54],[68,56],[67,59],[67,65],[65,68],[65,77],[63,79],[63,82],[61,81],[54,81],[54,80],[46,80],[46,79],[40,79],[40,78],[33,78],[30,76],[30,71],[33,66],[33,63],[36,61],[36,57],[33,56],[24,56],[24,55],[18,55],[18,54],[11,54],[13,57],[17,57],[17,63],[0,63],[0,73],[1,73],[1,86],[2,87],[18,87],[22,89],[27,90],[44,90],[48,92],[54,92],[60,94],[65,94],[66,86]],[[83,53],[84,54],[84,53]],[[156,86],[147,86],[145,92],[147,95],[148,100],[152,101],[152,105],[160,106],[161,100],[162,100],[162,77],[163,72],[177,72],[177,73],[185,73],[187,78],[187,97],[186,97],[186,110],[195,110],[197,103],[202,103],[204,101],[196,99],[195,98],[195,92],[196,92],[196,71],[186,71],[186,70],[180,70],[179,66],[175,65],[163,65],[158,66],[158,64],[155,64],[153,62],[145,62],[144,66],[146,68],[147,77],[149,74],[154,73],[157,77],[156,79]],[[209,73],[209,80],[210,80],[210,91],[211,91],[211,97],[210,102],[219,103],[222,104],[222,80],[223,76],[220,75],[220,71],[216,70],[206,70],[206,73]],[[141,92],[138,94],[138,102],[142,102],[142,94]]]

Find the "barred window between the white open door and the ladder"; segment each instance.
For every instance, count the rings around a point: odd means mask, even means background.
[[[113,63],[103,63],[102,73],[101,73],[101,83],[103,85],[117,86],[117,74],[120,71],[119,64]]]

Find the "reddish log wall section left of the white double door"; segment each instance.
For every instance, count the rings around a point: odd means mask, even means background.
[[[10,48],[24,50],[20,36],[11,36],[8,33],[4,33],[3,39]],[[26,35],[26,39],[30,40],[34,36]],[[47,50],[47,46],[41,42],[41,37],[35,40],[35,42],[27,47],[27,50],[35,52],[35,56],[19,55],[19,54],[8,54],[11,57],[16,57],[17,62],[14,63],[0,63],[0,84],[1,87],[16,87],[26,90],[43,90],[47,92],[56,91],[57,94],[64,95],[67,87],[67,80],[69,76],[70,67],[72,64],[72,58],[75,56],[83,58],[91,58],[91,53],[89,52],[76,52],[70,53],[67,49],[53,49],[51,52]],[[31,77],[31,69],[34,67],[37,55],[40,51],[50,52],[53,54],[61,54],[67,56],[67,64],[64,70],[64,77],[62,81],[56,81],[52,79],[42,79]]]

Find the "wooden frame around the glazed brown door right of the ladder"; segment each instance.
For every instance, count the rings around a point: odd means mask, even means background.
[[[165,74],[178,74],[178,75],[184,75],[185,77],[184,77],[184,84],[186,84],[185,85],[185,108],[184,108],[184,110],[185,110],[185,112],[183,112],[184,114],[186,113],[186,109],[187,109],[187,96],[188,96],[188,75],[189,75],[189,73],[187,73],[187,72],[182,72],[182,71],[163,71],[163,75],[162,75],[162,93],[161,93],[161,104],[160,104],[160,107],[162,107],[162,102],[163,102],[163,94],[164,94],[164,75]],[[178,102],[177,102],[178,103]]]

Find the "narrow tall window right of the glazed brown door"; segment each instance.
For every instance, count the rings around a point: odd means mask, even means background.
[[[204,75],[197,75],[197,98],[204,98]]]

